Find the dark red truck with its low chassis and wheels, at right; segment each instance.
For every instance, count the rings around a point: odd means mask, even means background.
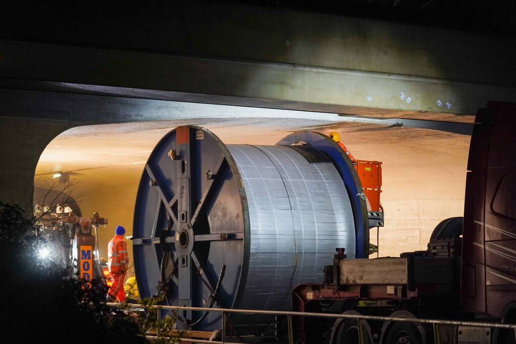
[[[467,166],[464,217],[442,221],[428,249],[349,259],[337,248],[322,283],[293,290],[293,310],[516,323],[516,105],[479,109]],[[352,258],[352,256],[351,256]],[[329,333],[322,329],[331,328]],[[299,343],[514,343],[503,329],[391,321],[295,321]]]

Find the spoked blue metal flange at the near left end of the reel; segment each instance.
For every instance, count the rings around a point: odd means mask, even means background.
[[[207,148],[209,147],[209,148]],[[209,152],[209,154],[206,154]],[[151,153],[137,194],[133,248],[143,297],[168,305],[231,307],[238,298],[245,209],[225,146],[198,127],[169,132]],[[226,269],[227,262],[232,262]],[[218,313],[178,312],[202,330]]]

